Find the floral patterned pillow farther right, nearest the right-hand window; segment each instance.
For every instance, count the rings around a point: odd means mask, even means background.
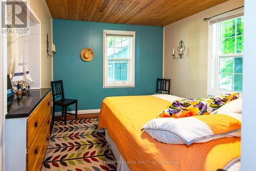
[[[239,96],[240,96],[239,93],[233,93],[233,94],[224,94],[221,96],[210,97],[209,100],[211,100],[211,104],[207,108],[207,112],[208,113],[214,112],[215,110],[219,109],[224,104],[226,104],[234,99],[238,99]]]

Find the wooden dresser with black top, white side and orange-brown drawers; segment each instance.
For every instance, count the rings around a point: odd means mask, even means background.
[[[50,138],[51,90],[8,100],[6,170],[40,170]]]

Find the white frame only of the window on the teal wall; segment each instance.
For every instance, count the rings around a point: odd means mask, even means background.
[[[108,81],[108,56],[106,34],[132,35],[131,57],[128,60],[127,81]],[[119,60],[122,60],[120,58]],[[126,58],[125,58],[126,59]],[[112,59],[117,60],[117,59]],[[135,87],[135,31],[103,30],[103,88],[131,88]]]

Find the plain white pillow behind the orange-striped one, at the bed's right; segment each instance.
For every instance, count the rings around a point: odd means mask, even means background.
[[[211,112],[210,115],[213,114],[226,114],[226,113],[239,113],[242,114],[242,98],[238,98],[236,100],[232,100],[219,109]]]

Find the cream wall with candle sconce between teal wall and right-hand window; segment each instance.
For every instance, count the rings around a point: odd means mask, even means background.
[[[171,93],[184,98],[207,97],[208,22],[210,17],[243,6],[243,0],[230,0],[164,27],[164,78],[170,78]],[[184,58],[172,59],[180,40]]]

